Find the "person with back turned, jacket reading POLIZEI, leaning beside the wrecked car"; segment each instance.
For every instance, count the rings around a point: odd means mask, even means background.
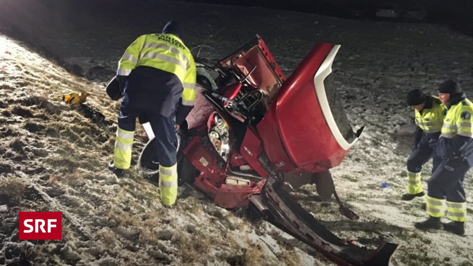
[[[176,130],[196,97],[196,65],[182,37],[175,21],[162,33],[139,36],[121,57],[116,76],[123,100],[108,168],[117,176],[130,168],[136,118],[146,117],[156,138],[152,160],[159,166],[161,202],[166,206],[177,198]]]

